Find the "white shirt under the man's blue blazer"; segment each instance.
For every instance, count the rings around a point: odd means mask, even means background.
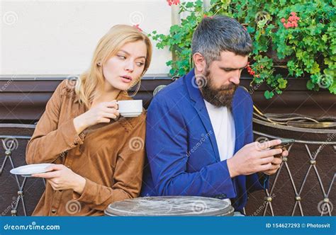
[[[227,107],[217,108],[215,105],[206,103],[206,109],[215,132],[220,161],[233,157],[235,151],[235,120]]]

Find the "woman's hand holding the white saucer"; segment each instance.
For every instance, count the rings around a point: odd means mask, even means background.
[[[74,173],[67,166],[52,164],[47,168],[46,173],[33,174],[33,177],[46,178],[54,190],[72,189],[74,192],[82,194],[86,183],[85,178]]]

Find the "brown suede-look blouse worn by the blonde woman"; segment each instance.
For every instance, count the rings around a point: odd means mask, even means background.
[[[28,142],[28,164],[64,164],[86,179],[82,195],[47,183],[33,215],[103,215],[112,203],[138,197],[145,159],[145,110],[77,134],[73,119],[87,111],[67,81],[57,86]],[[131,99],[125,91],[116,100]]]

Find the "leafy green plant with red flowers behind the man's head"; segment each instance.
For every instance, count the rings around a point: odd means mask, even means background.
[[[251,35],[254,49],[248,71],[253,83],[268,84],[266,98],[281,94],[289,76],[309,77],[308,89],[327,88],[336,94],[335,1],[212,0],[210,10],[204,11],[203,1],[198,0],[179,7],[180,13],[188,13],[181,25],[172,25],[169,35],[150,34],[158,48],[167,46],[173,52],[167,62],[171,76],[191,69],[191,38],[201,19],[225,15],[245,25]],[[280,69],[288,71],[286,76]]]

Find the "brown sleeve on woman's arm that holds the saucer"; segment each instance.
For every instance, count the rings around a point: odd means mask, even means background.
[[[112,202],[138,197],[142,184],[145,161],[145,115],[129,134],[125,134],[118,154],[111,188],[86,178],[82,195],[73,193],[73,199],[84,202],[95,210],[105,210]]]

